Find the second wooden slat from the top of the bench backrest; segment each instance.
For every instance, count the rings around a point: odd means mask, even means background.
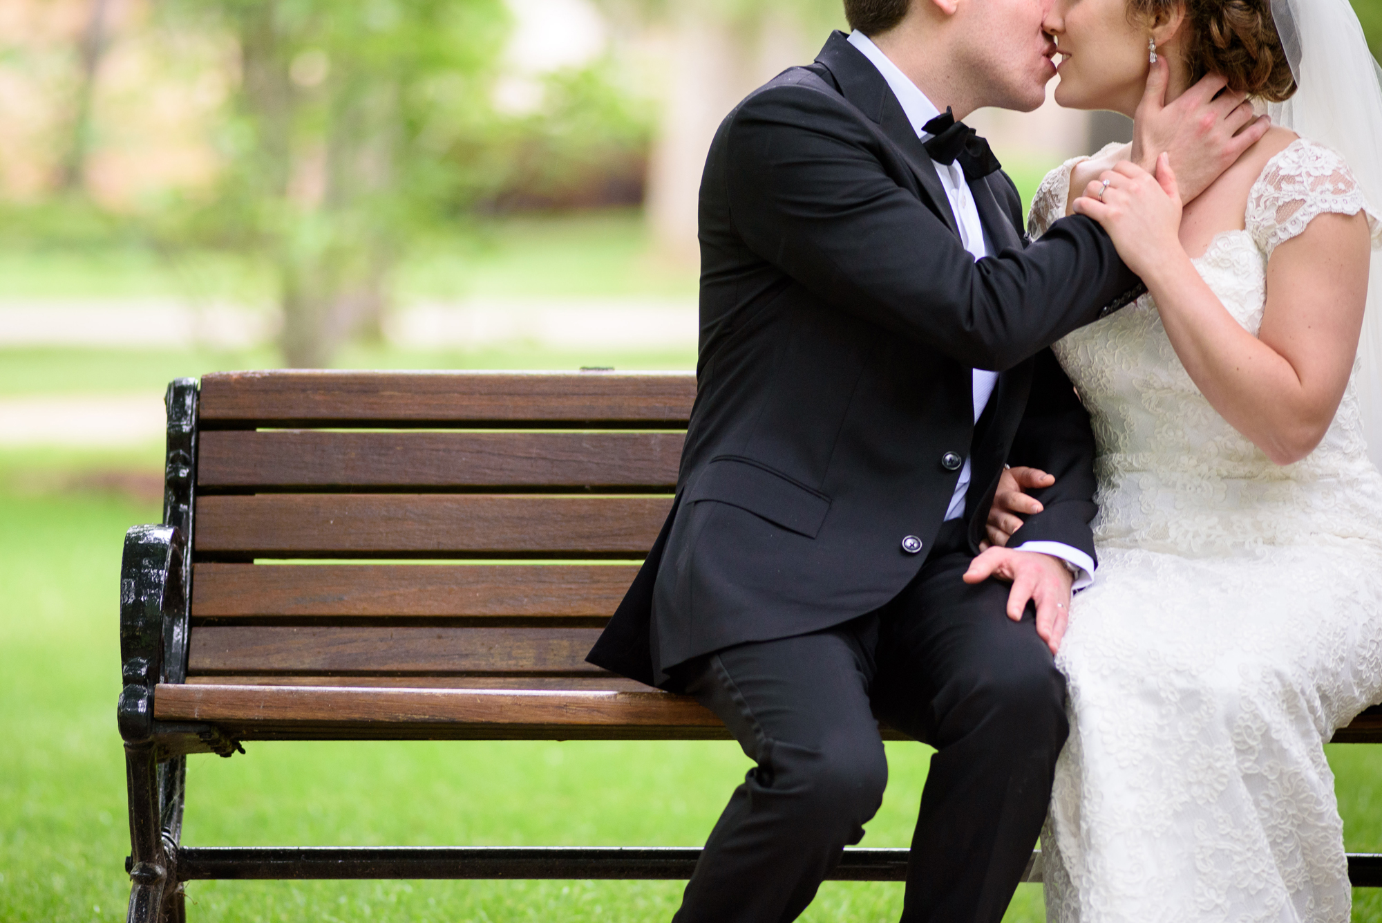
[[[202,434],[203,488],[633,488],[672,493],[680,432]]]

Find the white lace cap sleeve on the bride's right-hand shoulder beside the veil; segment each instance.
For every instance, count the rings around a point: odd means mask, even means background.
[[[1382,249],[1382,220],[1363,198],[1359,181],[1331,148],[1298,138],[1267,160],[1248,192],[1244,224],[1269,257],[1321,214],[1364,211],[1372,249]]]

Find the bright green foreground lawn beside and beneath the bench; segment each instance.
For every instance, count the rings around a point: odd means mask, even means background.
[[[129,453],[146,466],[153,450]],[[0,459],[0,919],[116,920],[129,850],[116,587],[156,502],[93,489],[77,459]],[[109,464],[109,463],[106,463]],[[35,473],[41,466],[43,473]],[[256,743],[189,760],[189,844],[694,846],[748,761],[727,742]],[[1331,748],[1346,837],[1382,850],[1382,748]],[[864,846],[905,846],[927,750],[889,745]],[[193,883],[193,920],[665,920],[674,882]],[[1354,919],[1382,922],[1359,891]],[[891,920],[897,884],[826,884],[807,920]],[[1007,920],[1043,919],[1023,886]]]

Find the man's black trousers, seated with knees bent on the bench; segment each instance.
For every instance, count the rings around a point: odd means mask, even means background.
[[[947,524],[952,526],[952,524]],[[875,714],[936,748],[904,922],[1002,919],[1046,817],[1066,742],[1064,678],[1031,607],[960,579],[958,528],[897,598],[853,622],[683,667],[755,761],[710,832],[676,923],[793,920],[887,785]]]

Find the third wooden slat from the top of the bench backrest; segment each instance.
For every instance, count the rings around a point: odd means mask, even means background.
[[[260,558],[643,558],[670,508],[662,496],[203,496],[195,547]]]

